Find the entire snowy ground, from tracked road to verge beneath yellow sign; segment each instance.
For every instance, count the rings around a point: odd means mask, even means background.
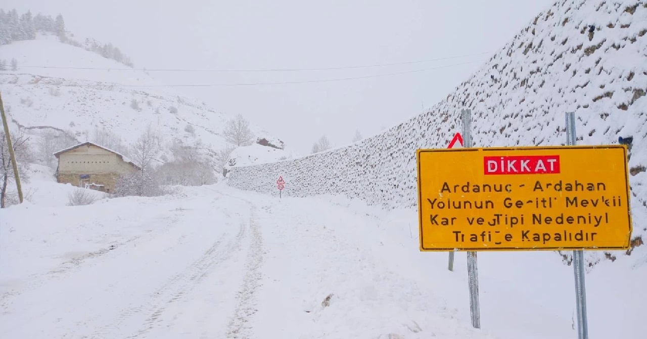
[[[587,275],[590,338],[639,338],[647,251]],[[632,255],[632,256],[633,256]],[[421,253],[413,209],[225,184],[0,210],[3,338],[573,338],[573,271],[543,252]],[[633,266],[632,266],[633,265]],[[621,277],[621,278],[620,278]],[[330,296],[330,298],[327,298]],[[631,301],[628,303],[628,301]],[[390,336],[389,336],[390,335]]]

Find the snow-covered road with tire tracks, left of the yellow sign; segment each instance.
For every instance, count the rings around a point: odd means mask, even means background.
[[[1,233],[3,338],[474,333],[344,236],[359,216],[226,186],[186,192],[14,207]]]

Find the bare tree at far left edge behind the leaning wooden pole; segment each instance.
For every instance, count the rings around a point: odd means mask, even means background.
[[[14,155],[18,167],[20,181],[28,182],[28,166],[32,161],[32,149],[29,144],[29,138],[19,130],[17,133],[10,133],[12,145],[14,146]],[[0,180],[2,188],[0,189],[0,207],[6,207],[7,186],[10,181],[14,180],[14,165],[11,162],[9,147],[6,143],[5,131],[0,130]]]

